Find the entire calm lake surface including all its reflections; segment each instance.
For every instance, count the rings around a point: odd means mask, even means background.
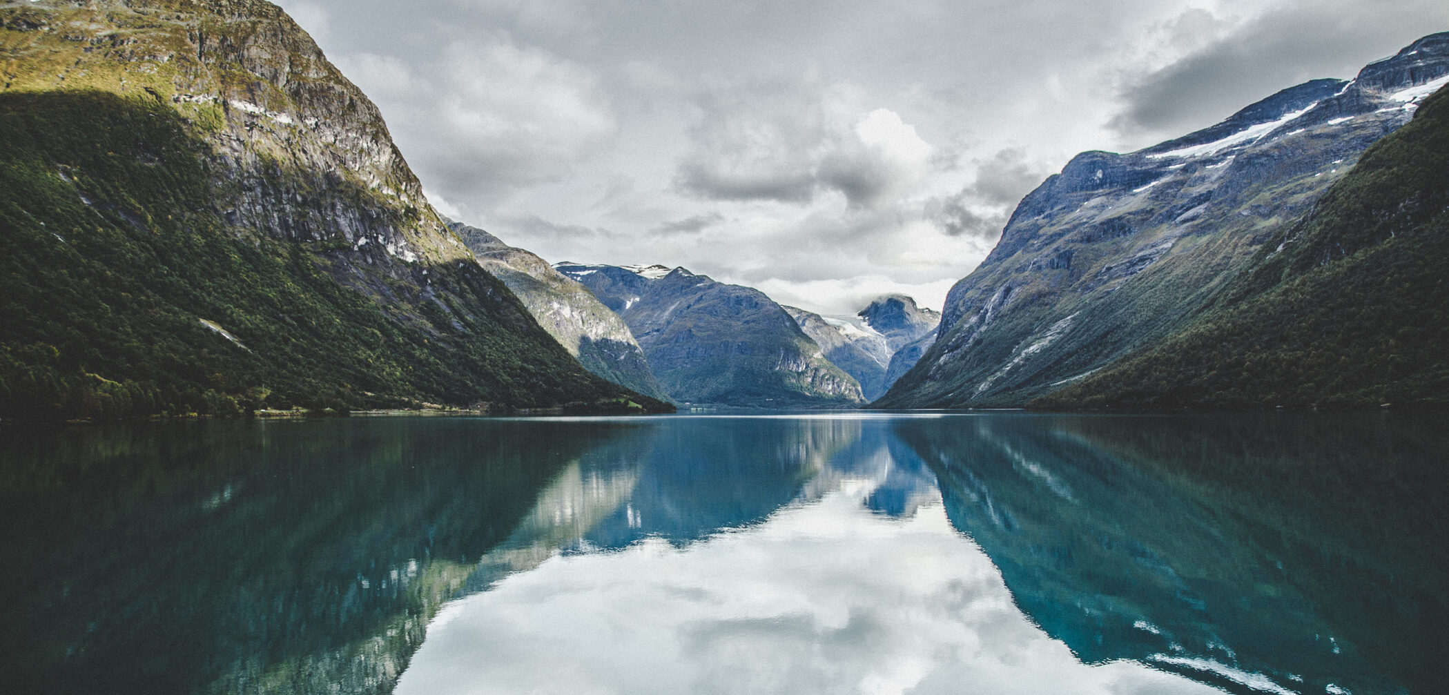
[[[0,429],[7,692],[1449,692],[1449,418]]]

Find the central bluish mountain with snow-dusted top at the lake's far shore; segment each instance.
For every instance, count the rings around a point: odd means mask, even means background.
[[[678,403],[851,405],[861,387],[759,290],[684,268],[555,264],[617,313]]]

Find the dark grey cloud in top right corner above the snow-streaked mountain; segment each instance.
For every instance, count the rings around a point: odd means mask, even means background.
[[[1343,0],[1268,12],[1161,70],[1129,78],[1120,94],[1124,107],[1110,126],[1129,136],[1182,135],[1282,88],[1353,77],[1382,58],[1385,46],[1397,49],[1449,29],[1449,4],[1442,0],[1394,4],[1392,13]]]

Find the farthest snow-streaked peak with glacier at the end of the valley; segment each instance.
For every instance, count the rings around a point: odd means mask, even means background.
[[[861,384],[865,400],[874,401],[906,374],[916,359],[914,352],[901,353],[907,346],[924,340],[929,346],[940,314],[920,308],[916,300],[906,295],[887,295],[871,303],[851,317],[826,317],[796,307],[784,307],[814,340],[826,359],[845,369]],[[904,365],[894,368],[893,365]]]

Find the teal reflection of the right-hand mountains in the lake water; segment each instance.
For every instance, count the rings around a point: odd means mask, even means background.
[[[1082,660],[1233,692],[1436,692],[1449,442],[1410,424],[994,416],[895,431],[1017,605]]]

